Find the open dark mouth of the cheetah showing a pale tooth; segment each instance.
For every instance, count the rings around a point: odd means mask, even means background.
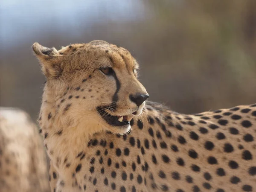
[[[102,107],[97,107],[97,111],[109,125],[120,127],[124,125],[130,125],[130,121],[133,118],[133,115],[125,115],[125,116],[113,116],[105,111]]]

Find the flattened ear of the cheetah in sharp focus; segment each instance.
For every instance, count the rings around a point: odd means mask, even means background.
[[[61,63],[60,54],[52,47],[44,47],[38,43],[34,43],[32,48],[35,52],[35,56],[41,63],[42,71],[47,78],[58,78],[61,75]]]

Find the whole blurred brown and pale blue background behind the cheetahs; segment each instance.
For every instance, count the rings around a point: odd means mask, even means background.
[[[35,120],[31,46],[105,40],[131,51],[150,100],[180,113],[256,102],[255,0],[1,0],[0,106]]]

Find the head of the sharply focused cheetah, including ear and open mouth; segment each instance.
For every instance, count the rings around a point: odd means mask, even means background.
[[[143,112],[149,95],[137,79],[130,52],[105,41],[72,44],[60,50],[32,46],[47,78],[42,116],[123,134]],[[46,102],[44,102],[46,101]],[[76,126],[78,126],[76,125]]]

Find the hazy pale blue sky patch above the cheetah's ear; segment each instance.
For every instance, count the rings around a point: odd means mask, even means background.
[[[79,29],[105,20],[139,20],[143,12],[140,0],[1,0],[0,47],[49,30],[79,35]]]

